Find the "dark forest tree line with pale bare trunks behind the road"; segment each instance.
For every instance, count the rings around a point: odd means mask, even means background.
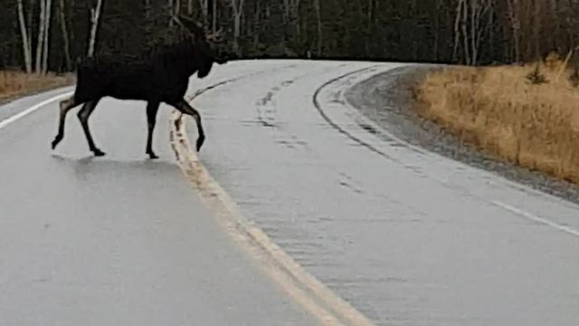
[[[579,45],[578,0],[3,0],[0,69],[69,72],[83,58],[169,42],[175,14],[223,29],[243,57],[471,65]]]

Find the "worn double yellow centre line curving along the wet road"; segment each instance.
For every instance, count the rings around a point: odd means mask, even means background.
[[[254,74],[251,74],[254,75]],[[196,91],[189,98],[211,91],[230,82],[241,81],[244,77],[233,78],[212,84]],[[241,213],[233,199],[223,190],[204,168],[190,145],[184,117],[177,111],[170,121],[171,147],[175,151],[177,162],[204,204],[214,211],[219,221],[233,239],[237,241],[252,257],[261,262],[261,268],[291,298],[327,326],[351,325],[372,326],[374,323],[365,315],[332,292],[316,277],[308,273],[291,256],[276,245],[258,226],[250,223]]]

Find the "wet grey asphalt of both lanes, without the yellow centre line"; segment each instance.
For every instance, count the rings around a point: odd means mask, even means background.
[[[193,101],[200,159],[246,218],[376,325],[576,324],[577,207],[404,144],[345,101],[396,66],[216,67],[190,85],[208,88]],[[0,324],[313,322],[187,187],[166,107],[162,159],[144,158],[143,109],[102,101],[90,121],[102,159],[78,123],[49,150],[55,104],[0,129]]]

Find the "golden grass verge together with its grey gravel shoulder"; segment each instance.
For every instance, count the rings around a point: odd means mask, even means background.
[[[414,146],[579,203],[579,88],[560,63],[404,66],[356,84],[347,100]]]

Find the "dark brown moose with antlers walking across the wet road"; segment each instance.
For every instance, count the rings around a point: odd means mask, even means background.
[[[184,16],[174,16],[182,30],[179,41],[147,55],[141,60],[121,60],[115,57],[89,58],[77,67],[76,90],[73,95],[60,102],[58,134],[52,140],[52,149],[64,137],[66,114],[82,104],[78,112],[81,126],[95,157],[104,156],[90,135],[89,117],[99,101],[104,97],[118,100],[147,101],[147,150],[151,159],[158,158],[153,151],[153,130],[157,120],[157,110],[161,102],[176,108],[181,113],[195,119],[197,125],[196,149],[203,146],[205,135],[201,116],[187,101],[189,78],[197,73],[198,78],[206,77],[214,62],[223,64],[226,55],[214,55],[211,43],[218,42],[222,31],[205,34],[204,29],[194,20]]]

